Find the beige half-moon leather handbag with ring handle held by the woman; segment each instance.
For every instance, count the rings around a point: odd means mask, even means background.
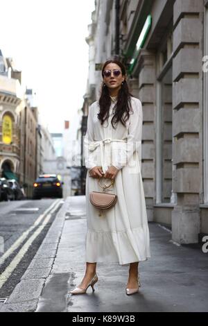
[[[99,185],[103,188],[103,192],[100,191],[91,191],[89,193],[89,200],[94,207],[100,210],[99,216],[102,214],[102,209],[109,209],[116,204],[117,195],[116,194],[106,194],[105,189],[114,185],[114,180],[111,180],[110,185],[101,185],[101,178],[99,178]]]

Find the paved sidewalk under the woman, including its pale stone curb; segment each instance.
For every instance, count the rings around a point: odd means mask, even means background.
[[[44,243],[0,311],[208,311],[208,254],[176,246],[149,223],[151,258],[139,264],[141,289],[125,295],[128,266],[98,263],[96,291],[70,295],[85,273],[85,196],[67,198]]]

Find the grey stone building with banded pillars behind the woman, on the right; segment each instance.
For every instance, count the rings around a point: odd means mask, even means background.
[[[177,243],[197,243],[208,234],[208,1],[95,4],[89,69],[96,99],[96,69],[119,58],[128,69],[130,91],[143,105],[148,221],[171,228]]]

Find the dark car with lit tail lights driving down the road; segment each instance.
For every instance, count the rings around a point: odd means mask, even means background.
[[[33,199],[42,197],[62,198],[62,183],[55,174],[42,174],[33,184]]]

